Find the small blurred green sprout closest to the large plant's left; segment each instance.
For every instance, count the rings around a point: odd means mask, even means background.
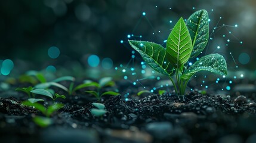
[[[101,97],[104,95],[113,95],[113,96],[117,96],[120,95],[118,92],[114,92],[114,91],[107,91],[107,92],[101,92],[102,89],[106,86],[114,86],[115,82],[112,81],[111,77],[104,77],[102,79],[100,79],[100,81],[97,82],[92,82],[91,80],[85,80],[84,83],[82,83],[81,85],[76,86],[76,88],[74,88],[72,90],[72,92],[78,91],[79,89],[82,88],[87,88],[87,87],[95,87],[97,90],[96,91],[85,91],[88,94],[94,95],[94,97],[97,98],[98,101],[100,101]]]

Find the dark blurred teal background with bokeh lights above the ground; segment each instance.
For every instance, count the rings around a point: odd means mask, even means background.
[[[70,61],[88,64],[90,55],[114,65],[128,63],[132,48],[127,39],[164,43],[178,18],[201,9],[210,18],[211,40],[204,54],[224,55],[229,70],[254,71],[254,0],[1,1],[0,60],[29,63],[21,70],[69,66]],[[135,61],[141,61],[137,53]]]

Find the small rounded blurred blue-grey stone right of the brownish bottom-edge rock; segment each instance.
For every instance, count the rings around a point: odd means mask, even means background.
[[[173,126],[169,122],[154,122],[147,124],[146,130],[157,139],[165,139],[172,135]]]

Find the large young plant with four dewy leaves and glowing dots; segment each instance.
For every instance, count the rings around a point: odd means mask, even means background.
[[[227,74],[226,60],[220,54],[201,57],[192,66],[189,60],[196,58],[205,48],[209,38],[209,21],[206,10],[193,13],[184,22],[181,17],[175,24],[166,42],[162,45],[146,41],[129,41],[152,69],[169,77],[176,94],[184,95],[187,83],[198,71],[211,71],[220,75]],[[177,85],[172,79],[176,78]]]

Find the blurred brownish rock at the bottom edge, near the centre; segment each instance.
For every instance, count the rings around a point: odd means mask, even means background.
[[[146,132],[140,132],[139,130],[105,130],[106,138],[104,142],[142,142],[148,143],[152,142],[152,136]]]

